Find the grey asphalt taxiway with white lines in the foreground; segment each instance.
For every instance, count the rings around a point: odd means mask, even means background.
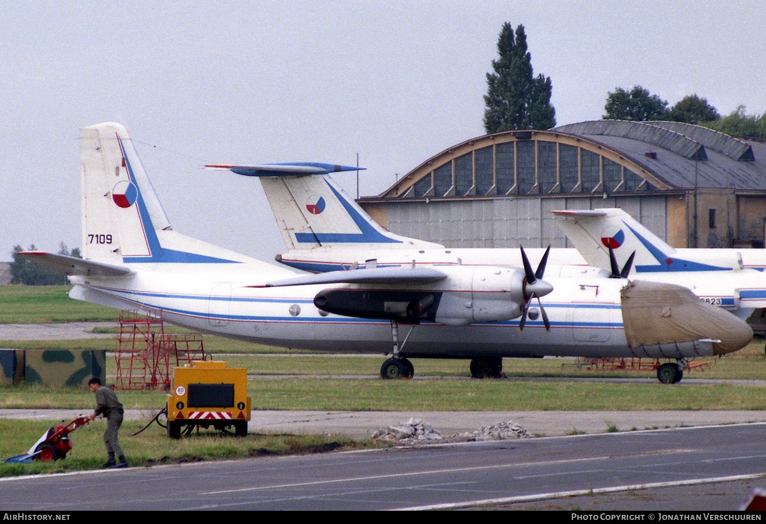
[[[610,503],[651,512],[732,511],[753,487],[763,486],[764,427],[684,427],[5,477],[0,490],[6,510],[63,513],[526,509],[540,503],[545,506],[532,507]]]

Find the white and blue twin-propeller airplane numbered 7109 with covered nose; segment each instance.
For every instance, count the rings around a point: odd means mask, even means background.
[[[273,346],[393,352],[385,378],[411,376],[408,357],[472,359],[476,372],[492,373],[503,357],[571,355],[674,359],[658,377],[677,382],[679,362],[736,351],[752,337],[684,287],[587,274],[543,280],[545,257],[533,272],[522,251],[519,267],[371,263],[296,274],[173,231],[123,126],[81,129],[80,150],[83,258],[21,253],[66,273],[77,300],[159,310],[178,326]],[[411,326],[402,343],[400,323]]]

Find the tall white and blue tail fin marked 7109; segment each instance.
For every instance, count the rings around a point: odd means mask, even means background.
[[[80,129],[82,249],[86,260],[145,263],[261,263],[172,231],[125,127]],[[270,264],[267,264],[270,265]]]

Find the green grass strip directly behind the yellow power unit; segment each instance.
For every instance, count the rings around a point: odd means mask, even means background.
[[[328,411],[582,411],[766,409],[766,388],[748,385],[568,380],[397,380],[264,378],[248,382],[253,409]],[[119,391],[126,408],[155,413],[163,391]],[[90,412],[93,395],[43,386],[0,388],[0,408]]]

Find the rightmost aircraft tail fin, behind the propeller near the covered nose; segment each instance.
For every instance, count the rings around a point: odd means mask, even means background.
[[[633,270],[637,273],[660,271],[716,271],[741,267],[738,254],[704,253],[689,257],[679,254],[639,221],[618,208],[553,211],[556,224],[589,265],[610,270],[609,248],[620,267],[635,251]],[[700,250],[702,251],[702,250]]]

